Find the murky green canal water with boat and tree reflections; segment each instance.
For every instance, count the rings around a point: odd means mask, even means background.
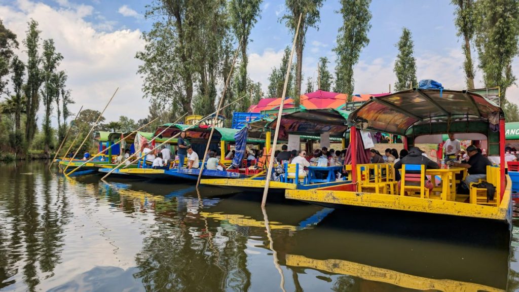
[[[502,223],[99,179],[0,164],[0,291],[519,289]]]

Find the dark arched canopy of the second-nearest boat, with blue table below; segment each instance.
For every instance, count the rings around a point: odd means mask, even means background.
[[[281,118],[279,139],[288,139],[289,134],[302,135],[308,140],[319,139],[319,135],[330,133],[331,138],[343,138],[348,129],[346,118],[348,111],[337,109],[299,110],[294,113],[286,113]],[[261,136],[266,130],[276,128],[276,118],[262,118],[249,123],[250,135]]]

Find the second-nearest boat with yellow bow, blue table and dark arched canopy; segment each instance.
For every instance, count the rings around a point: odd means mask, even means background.
[[[316,109],[305,110],[299,109],[291,110],[289,113],[283,114],[281,118],[279,140],[289,141],[288,150],[299,149],[301,142],[306,142],[306,152],[310,154],[313,148],[313,143],[322,138],[326,140],[335,140],[335,142],[342,143],[342,148],[345,148],[345,137],[348,126],[346,125],[346,118],[349,112],[338,109]],[[250,136],[265,137],[264,151],[264,168],[268,168],[268,160],[270,158],[270,144],[271,133],[275,130],[277,119],[263,118],[262,120],[249,123]],[[290,137],[292,136],[292,138]],[[295,144],[292,146],[290,140],[295,139]],[[268,155],[267,155],[268,154]],[[297,169],[296,169],[297,167]],[[298,173],[298,166],[293,164],[284,164],[284,174],[278,176],[278,179],[271,179],[270,189],[272,192],[283,193],[284,190],[309,190],[320,187],[332,187],[349,183],[350,181],[344,177],[337,177],[336,172],[342,172],[343,166],[310,166],[308,167],[308,176],[299,179],[291,178],[290,173]],[[272,169],[274,171],[274,169]],[[313,176],[316,172],[320,176]],[[244,179],[203,179],[202,184],[214,185],[218,187],[231,188],[236,191],[247,192],[263,192],[265,188],[266,176],[265,170],[261,175],[253,176]],[[274,176],[273,176],[274,177]]]

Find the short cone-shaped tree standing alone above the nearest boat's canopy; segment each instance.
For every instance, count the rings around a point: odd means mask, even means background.
[[[413,57],[413,39],[411,31],[407,28],[402,29],[402,36],[395,45],[398,48],[397,60],[394,62],[393,72],[397,75],[397,83],[394,88],[397,91],[417,86],[416,81],[416,60]]]

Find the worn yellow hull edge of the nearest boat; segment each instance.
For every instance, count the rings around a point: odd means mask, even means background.
[[[286,190],[285,197],[310,202],[506,220],[510,204],[511,185],[510,177],[507,176],[507,188],[504,191],[503,200],[499,207],[436,200],[433,198],[320,189]]]

